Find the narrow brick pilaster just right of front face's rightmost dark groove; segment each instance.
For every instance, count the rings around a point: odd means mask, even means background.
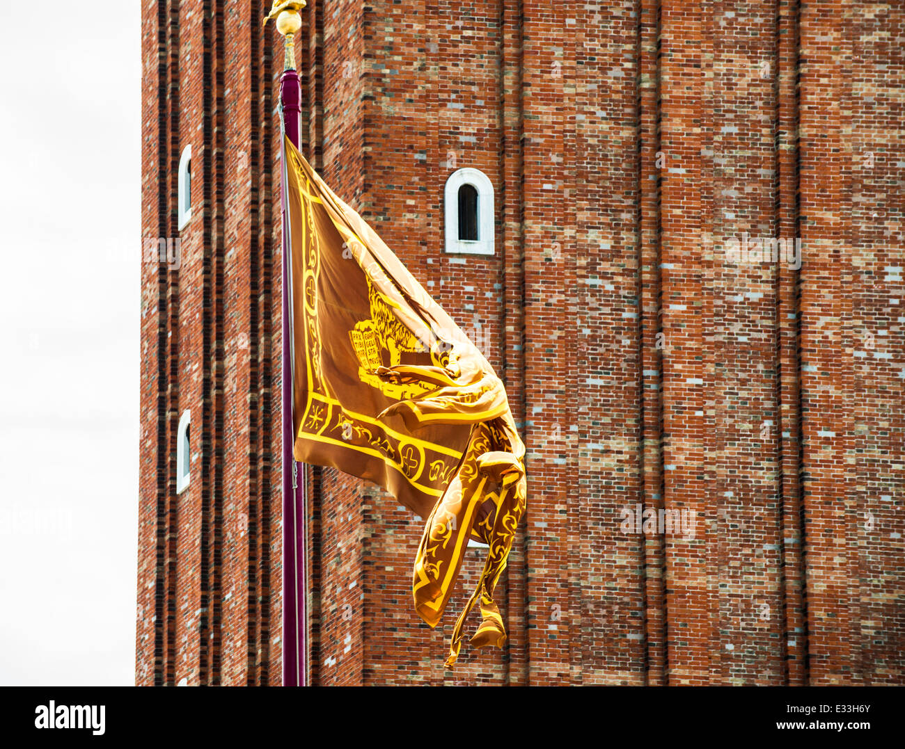
[[[846,61],[839,3],[801,9],[801,365],[805,560],[810,683],[852,677],[853,615],[849,562],[853,467],[845,442],[853,431],[845,373],[852,364],[850,248],[843,211],[841,119]]]

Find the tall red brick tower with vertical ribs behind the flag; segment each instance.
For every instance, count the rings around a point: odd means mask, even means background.
[[[270,5],[143,3],[139,684],[281,683]],[[472,333],[529,472],[506,649],[446,671],[483,551],[430,630],[423,521],[311,469],[310,683],[905,681],[905,12],[302,17],[302,152]],[[462,168],[492,185],[492,254],[449,251]]]

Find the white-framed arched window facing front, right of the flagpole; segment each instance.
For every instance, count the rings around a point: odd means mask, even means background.
[[[493,185],[480,169],[459,169],[443,191],[446,251],[493,254]]]

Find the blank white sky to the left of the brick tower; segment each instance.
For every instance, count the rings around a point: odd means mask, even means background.
[[[2,685],[134,682],[139,21],[0,4]]]

